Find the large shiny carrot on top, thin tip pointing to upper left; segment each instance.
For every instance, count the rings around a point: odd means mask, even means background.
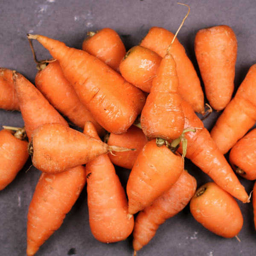
[[[85,51],[42,35],[28,35],[58,59],[64,75],[74,86],[81,102],[109,132],[123,134],[145,104],[145,95],[116,71]]]

